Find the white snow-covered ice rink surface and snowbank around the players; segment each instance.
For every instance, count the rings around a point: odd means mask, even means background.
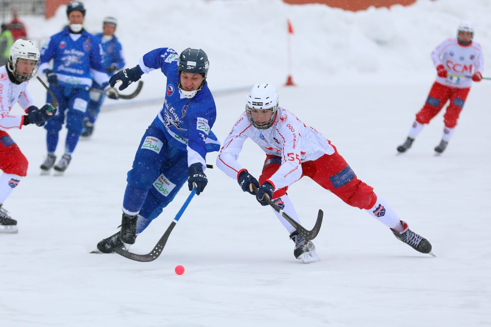
[[[485,65],[491,60],[487,0],[419,0],[358,13],[279,0],[147,0],[137,8],[129,0],[84,3],[91,32],[100,30],[103,17],[118,18],[116,35],[128,67],[154,48],[180,52],[191,46],[210,58],[212,92],[275,84],[280,105],[329,138],[357,176],[432,243],[437,257],[414,251],[376,219],[305,178],[288,192],[300,223],[310,229],[318,209],[325,215],[313,241],[321,261],[301,264],[271,209],[216,168],[206,170],[208,186],[193,198],[157,260],[89,254],[120,223],[126,173],[162,105],[107,100],[94,135],[79,142],[62,177],[39,174],[44,129],[25,126],[10,133],[29,169],[4,204],[19,233],[0,235],[0,326],[491,324],[491,82],[473,83],[440,157],[434,147],[441,112],[407,153],[396,156],[436,75],[430,52],[455,36],[461,20],[473,21]],[[287,17],[295,30],[297,87],[281,86]],[[41,39],[60,30],[66,14],[61,7],[49,21],[23,20],[28,33]],[[183,32],[191,21],[191,31]],[[135,101],[159,97],[165,89],[160,73],[143,81]],[[43,104],[42,86],[32,81],[28,89]],[[213,131],[220,141],[244,110],[246,94],[215,97]],[[208,163],[215,158],[208,155]],[[246,142],[239,162],[258,177],[263,161],[256,145]],[[150,251],[188,194],[184,187],[138,236],[133,252]],[[183,275],[174,273],[177,265],[185,267]]]

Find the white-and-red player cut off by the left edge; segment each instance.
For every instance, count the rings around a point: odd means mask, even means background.
[[[6,66],[0,67],[0,233],[17,233],[17,221],[2,208],[3,202],[27,175],[27,159],[6,131],[22,129],[24,125],[38,126],[51,118],[55,110],[47,112],[50,105],[41,109],[34,106],[27,92],[27,81],[37,72],[39,50],[28,40],[19,39],[10,48]],[[27,115],[12,115],[10,109],[16,104]]]

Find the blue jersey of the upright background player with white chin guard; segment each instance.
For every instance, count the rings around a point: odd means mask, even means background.
[[[83,88],[92,85],[92,78],[99,84],[109,81],[102,66],[101,44],[85,30],[72,34],[67,27],[51,36],[41,49],[41,72],[49,68],[51,59],[60,86]]]

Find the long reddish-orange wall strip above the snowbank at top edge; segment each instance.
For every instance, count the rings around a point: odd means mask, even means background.
[[[407,6],[416,0],[283,0],[290,4],[322,3],[329,7],[341,8],[344,10],[358,11],[367,9],[370,6],[390,7],[393,4]]]

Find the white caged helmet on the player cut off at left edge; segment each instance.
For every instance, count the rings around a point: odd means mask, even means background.
[[[18,59],[28,59],[35,62],[34,68],[28,71],[18,71]],[[25,82],[34,77],[37,73],[37,63],[39,62],[39,50],[30,40],[19,39],[12,44],[8,57],[7,69],[14,75],[17,81]]]

